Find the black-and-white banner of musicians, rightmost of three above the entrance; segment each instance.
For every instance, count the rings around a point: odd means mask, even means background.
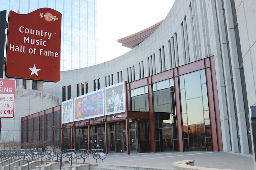
[[[125,112],[124,82],[105,87],[105,115]]]

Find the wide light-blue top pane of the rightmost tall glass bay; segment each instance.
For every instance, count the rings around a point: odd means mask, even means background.
[[[196,71],[184,76],[185,79],[185,90],[186,90],[186,99],[192,99],[196,97],[201,97],[201,81],[200,81],[200,72]]]

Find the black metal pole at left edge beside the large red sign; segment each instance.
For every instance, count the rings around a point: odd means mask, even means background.
[[[0,78],[3,78],[5,28],[6,28],[6,10],[0,12]],[[1,61],[1,58],[2,58],[2,61]],[[0,146],[1,146],[1,127],[2,127],[2,122],[0,118]]]

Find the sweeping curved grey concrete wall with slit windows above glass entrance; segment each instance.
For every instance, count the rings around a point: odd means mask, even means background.
[[[134,49],[105,63],[63,71],[61,80],[44,83],[44,90],[65,101],[78,95],[77,84],[80,95],[81,83],[88,82],[88,92],[93,92],[214,56],[223,150],[252,153],[247,103],[256,103],[255,78],[249,74],[255,72],[250,64],[255,63],[251,57],[255,35],[249,24],[255,12],[244,9],[255,6],[253,2],[176,0],[161,25]]]

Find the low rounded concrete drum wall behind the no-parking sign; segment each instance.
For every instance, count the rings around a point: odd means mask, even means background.
[[[1,142],[21,141],[21,118],[58,106],[59,98],[49,92],[16,89],[14,118],[2,118]]]

